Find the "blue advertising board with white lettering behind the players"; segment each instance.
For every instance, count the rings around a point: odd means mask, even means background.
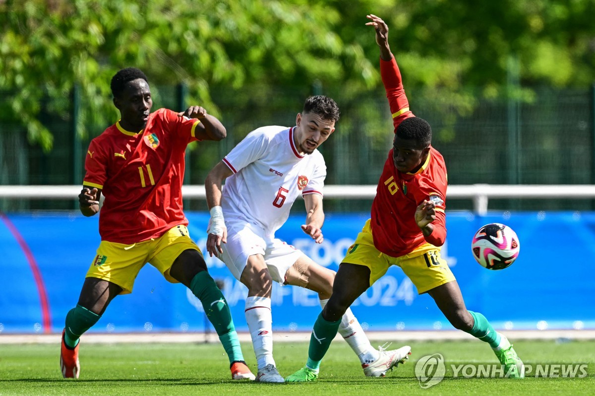
[[[190,235],[205,249],[207,213],[187,213]],[[367,214],[327,214],[324,242],[314,243],[300,229],[303,216],[291,216],[277,237],[301,249],[324,267],[337,270]],[[521,252],[511,267],[490,271],[471,255],[471,238],[480,226],[499,222],[519,236]],[[595,213],[452,212],[442,249],[471,311],[481,312],[500,329],[595,328],[595,292],[590,258],[595,256]],[[84,275],[99,244],[98,217],[78,213],[0,216],[0,333],[60,332],[66,313],[77,303]],[[238,331],[247,289],[223,262],[206,255],[209,272],[220,281]],[[318,313],[318,295],[300,287],[273,288],[275,331],[309,331]],[[452,329],[427,294],[399,268],[362,294],[352,310],[365,329]],[[201,303],[186,287],[170,284],[146,265],[132,294],[118,296],[95,332],[213,331]]]

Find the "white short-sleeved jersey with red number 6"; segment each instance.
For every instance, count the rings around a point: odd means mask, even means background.
[[[226,221],[243,218],[274,235],[299,194],[320,194],[327,176],[318,150],[301,155],[294,128],[263,126],[250,132],[223,159],[234,174],[223,186]]]

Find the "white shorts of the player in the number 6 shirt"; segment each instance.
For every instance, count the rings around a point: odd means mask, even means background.
[[[240,280],[248,257],[261,254],[274,281],[283,284],[285,273],[302,251],[288,245],[280,239],[266,235],[265,229],[241,219],[226,219],[227,243],[221,243],[223,254],[220,255],[233,276]]]

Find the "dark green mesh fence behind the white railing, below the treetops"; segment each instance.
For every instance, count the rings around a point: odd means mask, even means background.
[[[221,142],[198,142],[187,153],[186,183],[202,184],[206,173],[252,129],[263,125],[293,126],[303,100],[320,93],[317,87],[284,87],[276,91],[244,87],[242,91],[214,88],[218,114],[228,137]],[[478,90],[452,98],[436,90],[408,89],[411,110],[427,119],[434,131],[433,145],[446,159],[449,183],[591,184],[595,183],[594,90],[533,88],[522,100],[480,99]],[[339,104],[342,118],[333,136],[321,146],[328,167],[327,184],[375,184],[392,146],[392,121],[382,88],[352,93],[348,88],[322,92]],[[154,110],[181,110],[183,86],[154,87]],[[0,101],[10,100],[10,93]],[[68,115],[42,112],[41,119],[54,134],[54,148],[44,153],[27,142],[21,125],[0,123],[0,184],[80,184],[84,153],[90,138],[108,125],[90,126],[88,137],[76,133],[77,114],[84,107],[73,92]],[[116,120],[114,119],[114,122]],[[327,210],[368,211],[369,200],[325,201]],[[71,210],[70,201],[0,199],[0,210]],[[450,208],[471,208],[471,202],[452,200]],[[204,202],[186,202],[203,210]],[[590,200],[569,199],[490,201],[503,210],[590,210]],[[303,210],[296,205],[296,210]]]

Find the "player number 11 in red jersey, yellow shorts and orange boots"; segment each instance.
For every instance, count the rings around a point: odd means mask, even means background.
[[[87,271],[79,302],[66,315],[60,368],[64,378],[79,378],[79,338],[101,318],[118,294],[131,293],[148,262],[172,283],[198,297],[230,360],[233,379],[254,379],[244,362],[226,300],[207,272],[201,250],[190,238],[182,210],[184,153],[189,142],[219,141],[226,129],[200,106],[176,113],[151,113],[151,90],[136,68],[111,80],[120,121],[93,139],[79,194],[84,216],[99,212],[101,243]]]

